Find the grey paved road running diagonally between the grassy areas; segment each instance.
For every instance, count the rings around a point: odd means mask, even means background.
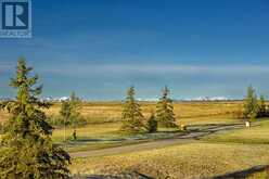
[[[101,150],[91,150],[84,152],[71,153],[72,157],[87,157],[87,156],[102,156],[102,155],[114,155],[129,152],[145,151],[152,149],[159,149],[176,144],[187,144],[197,142],[198,139],[220,131],[232,130],[243,128],[243,124],[230,124],[230,125],[206,125],[206,126],[192,126],[190,132],[183,136],[172,137],[170,139],[159,139],[156,141],[130,144],[125,146],[116,146]]]

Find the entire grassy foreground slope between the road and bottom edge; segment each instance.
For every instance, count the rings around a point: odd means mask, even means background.
[[[209,117],[208,117],[209,118]],[[212,117],[214,120],[215,117]],[[198,118],[196,118],[198,119]],[[208,119],[209,122],[209,119]],[[154,178],[208,178],[269,164],[269,120],[205,137],[200,142],[74,159],[74,174],[140,172]],[[204,142],[203,142],[204,141]],[[246,171],[247,172],[247,171]],[[266,179],[266,171],[248,178]]]

